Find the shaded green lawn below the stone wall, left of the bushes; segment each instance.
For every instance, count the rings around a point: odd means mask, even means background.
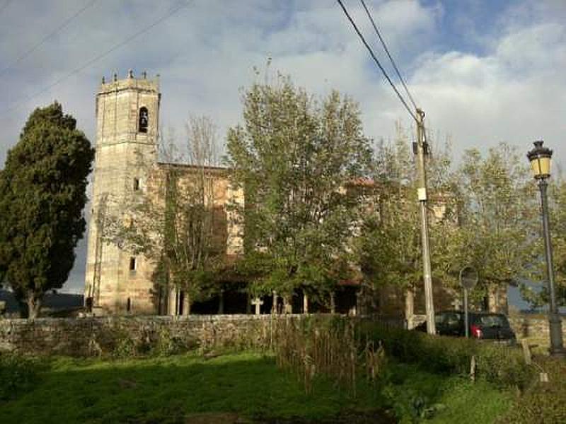
[[[0,404],[1,423],[178,423],[190,413],[321,418],[368,406],[332,384],[306,395],[272,357],[254,353],[128,360],[59,358],[35,389]],[[364,405],[365,404],[365,405]]]

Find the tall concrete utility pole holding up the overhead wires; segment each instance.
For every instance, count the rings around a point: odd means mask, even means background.
[[[430,266],[429,226],[427,219],[427,171],[425,168],[428,154],[427,135],[424,132],[424,112],[417,109],[417,196],[420,204],[421,239],[422,239],[422,273],[424,279],[424,306],[427,312],[427,333],[436,334],[434,322],[434,302],[432,301],[432,271]]]

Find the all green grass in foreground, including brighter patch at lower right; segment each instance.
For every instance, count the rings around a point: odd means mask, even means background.
[[[179,423],[190,413],[249,418],[333,417],[393,405],[403,422],[441,404],[434,423],[490,423],[509,407],[507,394],[483,383],[389,367],[386,389],[361,382],[357,399],[328,382],[306,395],[275,360],[255,353],[204,360],[195,355],[129,360],[53,360],[32,391],[0,404],[1,423]],[[292,419],[291,419],[292,421]],[[388,420],[384,420],[388,421]],[[373,421],[372,421],[373,422]]]

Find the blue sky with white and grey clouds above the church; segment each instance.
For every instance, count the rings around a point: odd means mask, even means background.
[[[0,71],[88,5],[33,54],[0,74],[0,163],[30,111],[54,99],[94,141],[100,78],[114,72],[125,77],[130,68],[137,74],[161,74],[161,122],[180,139],[189,114],[209,115],[219,134],[240,122],[241,89],[258,78],[254,66],[263,81],[268,58],[267,73],[287,73],[312,93],[335,88],[358,100],[366,134],[374,139],[393,136],[398,119],[410,124],[333,0],[190,0],[171,18],[64,78],[183,3],[91,1],[0,0]],[[385,63],[359,1],[345,4]],[[543,138],[564,163],[566,1],[367,4],[429,126],[451,135],[456,155],[500,141],[528,151],[533,140]],[[67,288],[82,287],[83,268],[81,244]]]

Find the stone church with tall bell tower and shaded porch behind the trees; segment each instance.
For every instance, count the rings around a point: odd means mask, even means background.
[[[88,228],[88,253],[85,276],[85,306],[95,314],[186,314],[187,298],[177,288],[156,287],[153,281],[155,265],[142,255],[135,255],[115,244],[105,242],[103,234],[108,225],[106,216],[122,213],[125,202],[132,196],[144,196],[163,186],[167,172],[175,167],[181,179],[190,182],[194,172],[202,167],[158,162],[158,128],[161,93],[159,80],[134,77],[112,81],[103,79],[96,95],[96,157],[93,172],[91,216]],[[205,167],[210,184],[210,206],[219,216],[216,231],[222,240],[221,250],[226,262],[242,253],[241,228],[229,218],[227,206],[243,204],[241,191],[231,189],[228,172],[221,167]],[[359,189],[359,187],[357,187]],[[375,187],[372,187],[375,189]],[[375,193],[372,196],[376,195]],[[377,194],[379,196],[379,194]],[[164,199],[163,199],[164,201]],[[434,220],[444,214],[443,203],[432,204]],[[239,286],[238,286],[239,283]],[[308,307],[303,293],[293,299],[265,296],[251,300],[246,282],[226,281],[215,298],[191,307],[191,313],[255,313],[262,312],[372,312],[412,316],[424,310],[422,290],[415,296],[395,288],[383,288],[362,293],[356,281],[345,281],[337,289],[328,307]],[[434,284],[434,303],[437,309],[451,309],[458,294],[443,293],[441,282]],[[506,296],[502,296],[504,302]],[[253,306],[252,306],[253,305]],[[408,318],[407,318],[408,319]]]

